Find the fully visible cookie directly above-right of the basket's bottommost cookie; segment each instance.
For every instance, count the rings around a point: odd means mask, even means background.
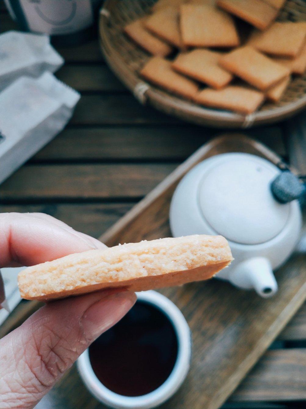
[[[288,67],[275,63],[271,58],[249,46],[224,54],[219,64],[225,70],[263,91],[290,74]]]

